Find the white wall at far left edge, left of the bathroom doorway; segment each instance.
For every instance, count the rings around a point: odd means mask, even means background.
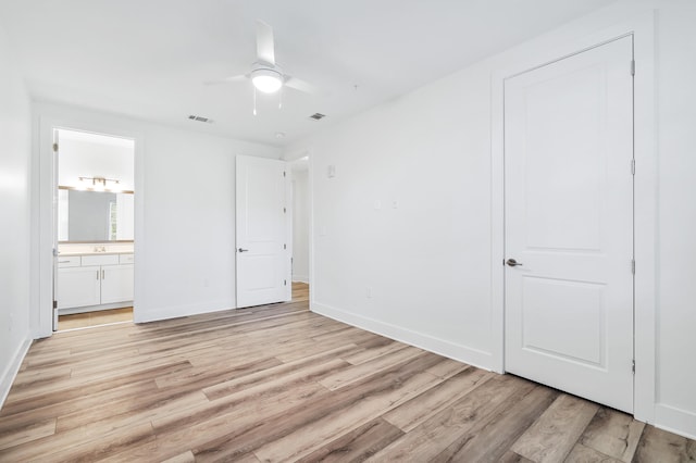
[[[30,107],[0,27],[0,406],[30,343]]]

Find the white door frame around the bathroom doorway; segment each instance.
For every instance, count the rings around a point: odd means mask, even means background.
[[[36,224],[35,235],[37,246],[32,255],[33,264],[38,268],[33,275],[33,287],[37,288],[35,300],[32,303],[32,333],[35,338],[45,338],[53,334],[53,241],[58,236],[55,223],[53,222],[53,189],[55,185],[54,173],[58,168],[53,157],[53,129],[67,129],[103,134],[114,137],[133,139],[134,146],[134,190],[135,197],[135,236],[134,251],[139,255],[138,260],[145,256],[145,155],[144,136],[134,128],[123,127],[117,123],[112,123],[107,116],[103,120],[92,120],[89,115],[82,115],[79,111],[66,109],[65,114],[57,114],[59,111],[52,108],[41,114],[44,108],[35,110],[39,116],[35,120],[35,127],[38,127],[38,135],[35,136],[34,147],[34,178],[35,187],[33,193],[37,196],[33,200],[34,208],[38,209],[38,216],[33,217]],[[62,112],[62,111],[60,111]],[[138,265],[134,266],[135,281],[133,296],[133,317],[138,320],[137,301],[142,300],[140,293],[145,288],[138,284]]]

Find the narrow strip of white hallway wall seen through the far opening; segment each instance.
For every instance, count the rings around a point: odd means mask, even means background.
[[[293,170],[293,281],[309,283],[308,171]]]

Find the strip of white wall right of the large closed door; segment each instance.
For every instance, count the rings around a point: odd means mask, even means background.
[[[658,11],[658,423],[696,438],[696,4]],[[685,426],[688,426],[685,428]]]

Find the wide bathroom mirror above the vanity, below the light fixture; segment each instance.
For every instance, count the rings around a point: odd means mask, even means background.
[[[58,190],[58,240],[133,241],[132,192]]]

